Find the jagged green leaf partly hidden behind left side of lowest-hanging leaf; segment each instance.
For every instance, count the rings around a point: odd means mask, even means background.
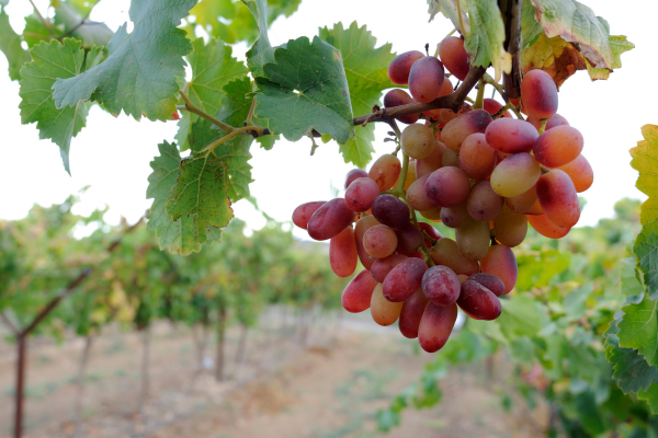
[[[171,187],[177,182],[181,155],[175,143],[167,141],[158,145],[160,155],[150,162],[154,170],[148,176],[147,199],[152,198],[154,204],[148,214],[147,228],[156,230],[156,237],[160,242],[160,250],[167,250],[172,254],[188,255],[201,250],[201,243],[196,239],[194,218],[183,216],[175,222],[166,211],[166,204]],[[207,241],[217,241],[222,232],[212,228],[207,233]]]

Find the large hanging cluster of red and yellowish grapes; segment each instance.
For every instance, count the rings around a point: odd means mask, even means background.
[[[468,74],[463,41],[445,38],[441,60],[420,51],[396,57],[390,80],[408,84],[411,95],[393,90],[386,107],[432,102],[453,92],[444,67],[460,80]],[[527,223],[559,239],[580,217],[578,192],[593,182],[580,154],[580,132],[556,114],[557,89],[542,70],[521,83],[521,112],[513,118],[495,100],[483,108],[464,104],[398,117],[402,161],[379,157],[365,172],[350,171],[344,198],[303,204],[297,227],[315,240],[330,239],[329,262],[341,277],[365,267],[345,287],[349,312],[371,309],[381,325],[399,321],[400,333],[418,337],[430,353],[445,345],[457,307],[477,320],[495,320],[499,297],[517,283],[511,247],[525,239]],[[479,105],[476,105],[479,106]],[[417,124],[421,118],[426,124]],[[455,229],[443,238],[429,221]],[[354,227],[353,227],[353,223]]]

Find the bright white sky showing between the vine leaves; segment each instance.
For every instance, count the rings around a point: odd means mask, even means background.
[[[588,204],[579,226],[595,224],[599,219],[611,217],[615,201],[623,197],[646,198],[635,188],[637,173],[629,166],[628,149],[642,139],[642,126],[658,125],[655,107],[658,90],[650,82],[647,87],[651,72],[658,71],[655,56],[658,41],[654,32],[658,2],[629,0],[623,8],[615,0],[582,2],[608,20],[611,34],[626,35],[636,48],[622,55],[623,68],[615,70],[610,80],[591,82],[587,72],[580,71],[559,92],[558,113],[582,132],[582,153],[594,170],[594,184],[582,194]],[[47,0],[35,3],[46,11]],[[359,25],[367,25],[377,45],[388,42],[394,51],[402,53],[422,50],[426,43],[435,47],[453,28],[442,15],[428,23],[424,0],[407,1],[404,8],[400,4],[399,0],[303,0],[294,15],[273,23],[270,41],[275,46],[304,35],[313,37],[320,26],[332,26],[339,21],[347,26],[356,21]],[[93,10],[91,19],[116,30],[128,21],[128,8],[127,0],[104,0]],[[22,18],[31,13],[30,3],[12,0],[7,10],[12,26],[20,33]],[[234,55],[245,59],[247,49],[239,44]],[[114,118],[94,106],[87,127],[71,142],[69,176],[58,147],[47,139],[39,140],[35,125],[21,125],[19,83],[9,80],[7,60],[1,55],[0,90],[1,219],[22,218],[34,203],[44,206],[61,203],[84,186],[90,188],[76,212],[87,214],[107,205],[106,220],[116,223],[123,216],[133,222],[149,207],[151,200],[145,195],[149,162],[157,155],[159,142],[173,140],[175,122],[136,122],[123,114]],[[393,151],[392,143],[383,142],[387,126],[377,125],[374,158]],[[353,169],[343,162],[334,142],[320,145],[313,157],[310,146],[308,139],[296,143],[282,140],[273,150],[265,151],[253,143],[251,194],[277,220],[290,220],[299,204],[336,196],[345,173]],[[265,223],[247,200],[236,203],[234,209],[253,229]],[[304,233],[298,230],[296,234]]]

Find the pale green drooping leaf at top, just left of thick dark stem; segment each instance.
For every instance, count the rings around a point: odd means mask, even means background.
[[[470,55],[470,65],[496,70],[496,81],[502,72],[512,71],[512,56],[504,50],[504,23],[496,0],[469,0],[470,32],[464,48]]]

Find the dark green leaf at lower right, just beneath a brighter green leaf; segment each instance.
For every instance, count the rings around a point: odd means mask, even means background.
[[[658,369],[649,366],[633,348],[620,347],[619,328],[611,324],[605,338],[605,358],[613,365],[612,378],[625,394],[648,389],[658,383]]]

